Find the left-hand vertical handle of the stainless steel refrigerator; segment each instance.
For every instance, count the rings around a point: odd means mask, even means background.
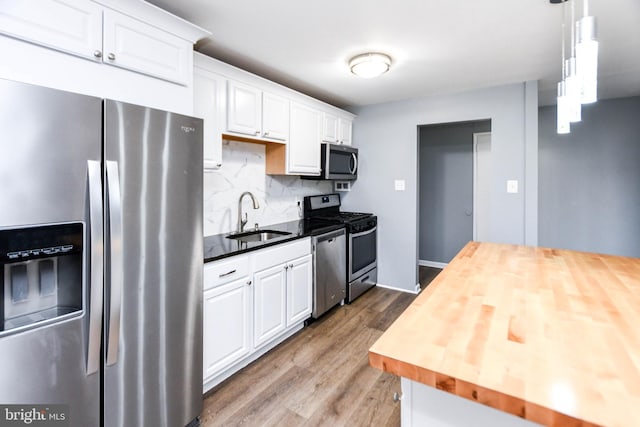
[[[89,337],[87,343],[87,375],[100,370],[100,340],[102,337],[102,302],[104,262],[102,233],[102,177],[100,162],[87,161],[87,189],[89,192],[90,241],[90,301]]]

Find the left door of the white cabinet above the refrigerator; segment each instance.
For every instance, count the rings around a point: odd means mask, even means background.
[[[102,8],[86,0],[3,0],[0,33],[99,60]]]

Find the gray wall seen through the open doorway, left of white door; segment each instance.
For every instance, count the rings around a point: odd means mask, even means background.
[[[448,263],[473,240],[473,134],[491,121],[419,129],[419,258]]]

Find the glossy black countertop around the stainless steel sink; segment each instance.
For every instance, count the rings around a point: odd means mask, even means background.
[[[271,239],[266,242],[240,242],[234,239],[227,239],[227,236],[229,234],[233,234],[233,232],[206,236],[204,238],[204,262],[215,261],[233,255],[255,251],[257,249],[290,242],[303,237],[316,236],[332,230],[338,230],[343,227],[344,225],[342,224],[317,224],[301,219],[282,222],[280,224],[261,226],[260,230],[276,230],[291,233],[286,236],[276,237],[275,239]],[[247,228],[245,231],[251,230],[251,228]]]

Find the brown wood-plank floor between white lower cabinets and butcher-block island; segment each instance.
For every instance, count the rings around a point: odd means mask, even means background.
[[[209,392],[201,425],[399,426],[400,380],[367,352],[414,298],[376,287],[336,307]]]

